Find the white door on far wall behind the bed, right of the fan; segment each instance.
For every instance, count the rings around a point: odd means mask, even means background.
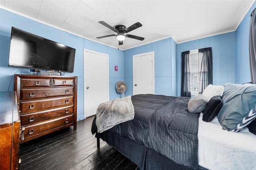
[[[133,95],[155,93],[154,51],[132,56]]]

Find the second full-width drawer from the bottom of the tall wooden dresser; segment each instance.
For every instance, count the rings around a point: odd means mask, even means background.
[[[47,121],[70,114],[74,114],[74,106],[65,106],[61,108],[20,115],[20,122],[21,126],[32,125],[40,121]]]

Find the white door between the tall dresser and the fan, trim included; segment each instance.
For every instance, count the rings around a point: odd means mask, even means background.
[[[84,49],[84,117],[109,100],[108,55]]]

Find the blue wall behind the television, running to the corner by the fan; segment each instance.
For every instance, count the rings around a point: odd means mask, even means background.
[[[54,27],[25,18],[0,8],[0,91],[14,90],[14,74],[29,74],[26,68],[8,67],[8,57],[10,49],[11,28],[16,27],[24,31],[39,35],[41,37],[56,41],[76,49],[74,72],[65,73],[66,76],[78,77],[78,98],[77,98],[77,118],[84,119],[84,75],[83,75],[83,49],[90,49],[109,55],[109,82],[110,100],[117,98],[114,85],[120,80],[124,80],[124,58],[123,51],[78,37],[66,31],[61,31]],[[114,65],[118,65],[118,72],[114,72]],[[9,87],[10,86],[10,87]]]

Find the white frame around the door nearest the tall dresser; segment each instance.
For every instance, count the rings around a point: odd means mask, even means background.
[[[94,53],[94,54],[99,54],[99,55],[104,55],[107,57],[107,89],[108,89],[108,92],[107,92],[107,98],[109,100],[109,55],[108,54],[105,54],[105,53],[100,53],[98,51],[92,51],[92,50],[89,50],[89,49],[84,49],[83,50],[83,70],[84,70],[84,119],[86,119],[86,86],[85,86],[85,77],[86,77],[86,72],[85,72],[85,57],[86,57],[86,52],[88,53]]]

